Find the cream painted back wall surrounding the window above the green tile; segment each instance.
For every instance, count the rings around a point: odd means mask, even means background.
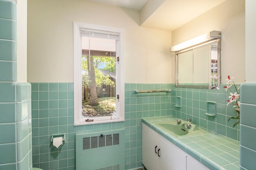
[[[136,10],[88,0],[28,0],[28,82],[73,82],[73,21],[124,28],[125,82],[170,83],[171,32]]]

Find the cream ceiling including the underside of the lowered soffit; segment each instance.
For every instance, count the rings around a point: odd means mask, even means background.
[[[92,0],[104,4],[141,10],[145,4],[158,0]],[[141,23],[143,27],[173,31],[225,0],[163,0],[154,12]],[[154,4],[153,4],[154,5]],[[142,10],[141,10],[142,11]],[[145,10],[143,11],[145,12]]]

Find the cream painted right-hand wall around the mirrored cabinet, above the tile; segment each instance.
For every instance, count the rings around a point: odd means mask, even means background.
[[[253,17],[255,21],[255,16]],[[172,31],[172,46],[212,30],[222,31],[222,83],[226,83],[228,75],[235,77],[236,83],[244,82],[245,0],[226,0]],[[172,68],[173,64],[172,54]],[[174,80],[172,74],[172,82]]]

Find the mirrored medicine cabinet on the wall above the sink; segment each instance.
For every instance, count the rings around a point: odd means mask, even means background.
[[[220,89],[220,37],[176,51],[176,87]]]

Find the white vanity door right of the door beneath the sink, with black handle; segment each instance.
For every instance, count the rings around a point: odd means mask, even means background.
[[[158,138],[158,144],[160,146],[158,170],[186,170],[185,154],[162,137]]]

